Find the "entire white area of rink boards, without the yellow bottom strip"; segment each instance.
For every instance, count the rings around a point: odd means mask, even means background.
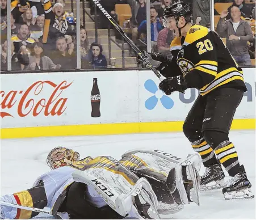
[[[255,119],[255,69],[244,78],[235,119]],[[152,71],[3,74],[1,128],[184,121],[198,91],[166,96],[159,83]]]

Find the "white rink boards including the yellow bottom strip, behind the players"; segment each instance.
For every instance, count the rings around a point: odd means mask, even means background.
[[[100,117],[91,117],[93,79]],[[255,68],[245,68],[244,94],[232,129],[255,129]],[[152,71],[1,75],[1,138],[179,132],[198,91],[166,96]]]

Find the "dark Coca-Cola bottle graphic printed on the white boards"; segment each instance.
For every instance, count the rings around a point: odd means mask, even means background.
[[[99,111],[100,93],[97,78],[93,79],[93,89],[91,90],[91,117],[100,117]]]

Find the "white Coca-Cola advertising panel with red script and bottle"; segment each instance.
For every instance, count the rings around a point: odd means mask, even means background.
[[[92,117],[97,79],[100,116]],[[136,71],[1,75],[1,127],[82,125],[138,121]],[[98,117],[99,116],[99,117]]]

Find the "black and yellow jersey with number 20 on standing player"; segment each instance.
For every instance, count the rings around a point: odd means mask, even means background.
[[[246,91],[242,69],[220,37],[210,29],[192,26],[186,37],[176,37],[171,42],[170,51],[174,56],[171,66],[175,62],[188,88],[198,88],[200,95],[220,86],[240,87]]]

